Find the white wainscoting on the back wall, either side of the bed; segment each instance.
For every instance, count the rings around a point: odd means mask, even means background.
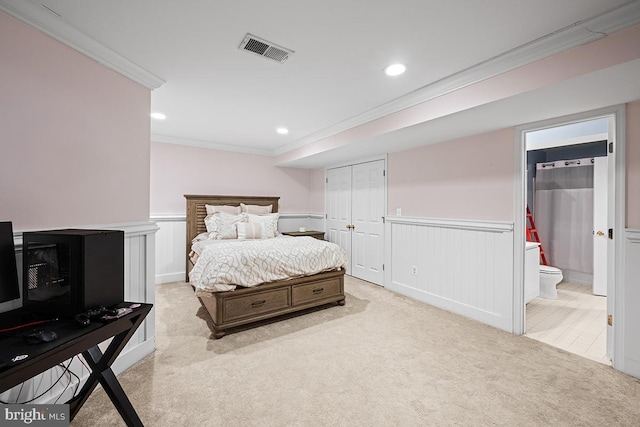
[[[151,221],[158,224],[156,235],[155,283],[171,283],[185,280],[186,222],[184,215],[153,215]],[[278,230],[324,231],[324,215],[315,213],[280,213]]]

